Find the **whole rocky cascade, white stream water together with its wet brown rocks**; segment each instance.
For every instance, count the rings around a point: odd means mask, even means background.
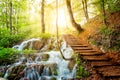
[[[57,46],[56,41],[49,39],[42,47],[38,46],[42,45],[41,42],[41,39],[33,38],[14,46],[14,49],[21,51],[22,56],[14,64],[8,65],[4,78],[8,79],[9,75],[13,72],[16,72],[13,77],[19,77],[14,80],[70,80],[75,78],[77,65],[70,64],[70,60],[66,61],[61,57],[60,51],[55,49]],[[34,45],[36,44],[39,47],[37,49],[40,49],[39,52],[28,55],[27,57],[23,55],[23,49],[34,49]],[[52,50],[47,50],[49,45],[52,46]],[[74,53],[72,48],[64,40],[61,42],[61,51],[66,58],[71,58]],[[21,65],[22,69],[20,67]]]

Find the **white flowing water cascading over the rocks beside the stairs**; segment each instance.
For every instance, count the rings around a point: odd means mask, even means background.
[[[28,41],[22,42],[20,45],[14,46],[18,50],[23,50],[23,48],[27,45],[28,42],[31,42],[30,46],[32,48],[33,41],[40,40],[40,39],[30,39]],[[70,46],[66,45],[66,42],[63,41],[61,43],[61,51],[63,52],[66,58],[71,58],[73,55],[73,50]],[[44,54],[49,55],[48,60],[42,60],[43,57],[41,56]],[[61,57],[59,51],[44,51],[36,53],[35,59],[32,59],[31,56],[26,59],[25,56],[22,56],[18,62],[10,65],[10,67],[6,70],[4,78],[8,78],[11,71],[14,67],[17,67],[24,63],[26,67],[22,72],[24,72],[24,76],[20,80],[68,80],[73,79],[76,76],[76,65],[74,65],[73,69],[70,70],[68,68],[69,62],[66,61]]]

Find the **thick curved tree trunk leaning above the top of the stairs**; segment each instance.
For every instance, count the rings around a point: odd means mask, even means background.
[[[73,27],[80,33],[83,29],[81,28],[81,25],[76,23],[74,20],[72,8],[71,8],[71,0],[66,0],[66,4],[67,4],[68,13],[70,16],[70,21],[71,21]]]

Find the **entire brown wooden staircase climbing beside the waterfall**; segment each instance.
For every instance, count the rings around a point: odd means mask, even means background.
[[[113,64],[100,50],[96,50],[88,43],[76,38],[70,34],[63,35],[68,45],[72,47],[75,53],[79,54],[86,64],[90,64],[97,74],[102,76],[101,80],[120,80],[120,65]],[[86,79],[97,80],[97,79]]]

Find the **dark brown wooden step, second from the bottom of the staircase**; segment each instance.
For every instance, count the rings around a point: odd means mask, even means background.
[[[93,67],[101,67],[101,66],[110,66],[113,65],[110,61],[94,61],[90,62]]]

